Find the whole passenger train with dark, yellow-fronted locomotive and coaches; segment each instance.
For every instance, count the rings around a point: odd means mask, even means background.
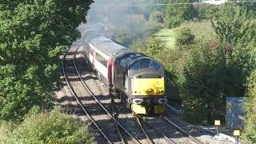
[[[83,51],[98,78],[134,114],[166,111],[166,75],[154,58],[106,38],[104,25],[87,26],[82,33]]]

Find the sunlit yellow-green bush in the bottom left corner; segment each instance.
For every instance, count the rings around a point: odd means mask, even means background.
[[[3,143],[91,143],[93,137],[82,122],[62,114],[57,107],[51,112],[30,111],[24,122],[8,131]],[[5,126],[10,130],[10,126]],[[5,130],[5,129],[3,129]]]

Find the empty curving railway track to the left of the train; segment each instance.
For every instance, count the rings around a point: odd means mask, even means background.
[[[123,126],[112,115],[114,114],[114,108],[112,109],[112,114],[110,114],[109,110],[106,110],[106,108],[102,105],[101,102],[98,101],[93,92],[90,90],[89,86],[86,85],[86,82],[83,81],[76,66],[75,55],[76,51],[73,52],[73,61],[71,61],[71,58],[67,59],[66,55],[64,55],[64,58],[62,59],[62,72],[64,78],[66,79],[66,85],[69,87],[71,94],[77,100],[79,106],[81,106],[82,110],[86,113],[87,118],[90,119],[90,121],[94,124],[94,126],[98,129],[98,131],[102,134],[108,143],[126,143],[124,140],[125,138],[123,138],[121,134],[121,130],[123,134],[126,134],[126,137],[128,136],[132,139],[133,143],[139,143],[138,140],[134,138],[126,129],[124,129]],[[68,74],[66,71],[69,71],[70,74]],[[70,82],[72,78],[74,78],[74,74],[76,74],[77,79],[80,79],[80,85],[83,87],[83,93],[90,94],[90,98],[87,100],[94,100],[96,102],[94,104],[95,106],[86,106],[82,103],[82,100],[80,100],[82,95],[79,95],[79,93],[81,94],[81,91],[78,92],[75,88],[74,82]],[[105,113],[105,116],[108,116],[109,119],[107,121],[100,122],[100,120],[95,118],[95,113]],[[102,123],[104,123],[104,126]]]

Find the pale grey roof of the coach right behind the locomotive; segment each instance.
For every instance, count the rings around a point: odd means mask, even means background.
[[[95,36],[90,38],[90,44],[95,46],[98,50],[101,50],[103,53],[111,56],[117,54],[120,51],[129,50],[128,48],[119,45],[118,43],[113,42],[109,38],[103,36]]]

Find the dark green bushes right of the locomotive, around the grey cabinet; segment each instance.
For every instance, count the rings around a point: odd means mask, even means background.
[[[203,124],[224,120],[226,96],[243,96],[244,82],[254,68],[254,46],[217,42],[195,47],[184,69],[182,116]]]

